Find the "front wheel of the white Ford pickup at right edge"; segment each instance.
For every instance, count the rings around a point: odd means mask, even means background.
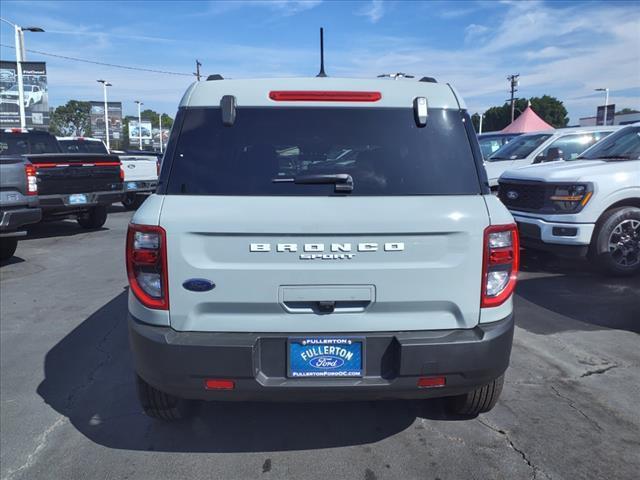
[[[640,208],[621,207],[605,212],[596,223],[589,258],[607,275],[640,272]]]

